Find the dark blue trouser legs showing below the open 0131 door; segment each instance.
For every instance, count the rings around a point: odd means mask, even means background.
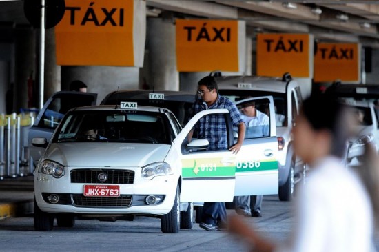
[[[206,224],[226,223],[226,207],[224,202],[204,202],[201,219]]]

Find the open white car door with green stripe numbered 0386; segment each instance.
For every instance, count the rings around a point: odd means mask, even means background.
[[[246,123],[243,146],[236,155],[234,195],[269,195],[278,193],[278,139],[272,96],[236,102]],[[259,120],[249,121],[246,113],[256,110]],[[251,118],[251,117],[250,117]]]

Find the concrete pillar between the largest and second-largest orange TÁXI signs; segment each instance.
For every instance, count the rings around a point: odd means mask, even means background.
[[[179,90],[175,25],[172,19],[147,19],[146,41],[150,66],[147,84],[156,90]]]

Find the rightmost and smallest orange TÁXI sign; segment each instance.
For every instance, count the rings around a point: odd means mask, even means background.
[[[314,81],[360,81],[358,43],[318,43],[314,57]]]

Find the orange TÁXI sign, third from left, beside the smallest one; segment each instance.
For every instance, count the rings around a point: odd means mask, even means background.
[[[308,34],[258,34],[257,75],[282,77],[289,72],[292,77],[311,77],[313,52],[309,41]]]

